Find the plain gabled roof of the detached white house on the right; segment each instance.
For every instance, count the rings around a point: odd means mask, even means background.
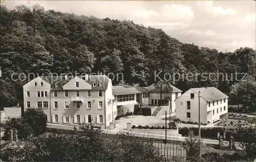
[[[223,92],[221,92],[215,87],[190,88],[190,89],[197,94],[200,91],[200,96],[204,98],[207,102],[228,98],[227,95],[225,95]]]

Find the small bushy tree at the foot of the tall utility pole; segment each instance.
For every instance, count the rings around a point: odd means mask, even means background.
[[[193,130],[189,130],[188,138],[182,146],[186,150],[186,160],[199,161],[201,145],[202,142],[194,137]]]

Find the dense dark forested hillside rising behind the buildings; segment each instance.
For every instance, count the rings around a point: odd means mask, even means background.
[[[22,86],[27,81],[13,81],[14,72],[122,72],[125,83],[140,86],[155,83],[155,70],[185,74],[219,70],[228,75],[236,71],[249,73],[254,78],[256,75],[256,51],[248,47],[223,53],[183,44],[161,29],[146,28],[133,21],[45,11],[41,6],[33,9],[17,6],[14,10],[1,6],[0,52],[1,106],[23,100]],[[144,71],[144,77],[131,76],[133,69],[138,73]],[[174,85],[183,91],[190,87],[215,86],[228,94],[231,85],[237,83],[236,80],[199,79],[192,82],[183,79]],[[113,80],[114,85],[118,83]]]

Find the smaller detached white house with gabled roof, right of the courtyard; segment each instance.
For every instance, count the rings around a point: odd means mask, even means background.
[[[213,123],[228,117],[228,96],[215,87],[190,88],[176,102],[176,118],[182,121]]]

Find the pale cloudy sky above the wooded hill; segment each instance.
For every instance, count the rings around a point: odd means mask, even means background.
[[[39,4],[45,10],[133,20],[162,29],[183,43],[232,52],[256,49],[256,1],[4,1],[9,9]]]

